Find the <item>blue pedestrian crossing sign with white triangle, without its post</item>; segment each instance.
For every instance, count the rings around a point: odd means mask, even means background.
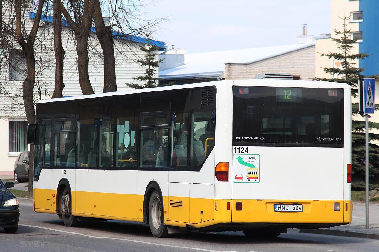
[[[359,107],[363,114],[374,114],[375,112],[375,78],[363,78],[359,89]]]

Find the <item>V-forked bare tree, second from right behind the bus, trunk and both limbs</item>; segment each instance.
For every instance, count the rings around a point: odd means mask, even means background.
[[[78,77],[81,92],[84,95],[93,94],[95,92],[89,81],[88,74],[88,37],[91,32],[95,1],[69,0],[67,2],[67,9],[61,0],[58,1],[64,17],[75,33],[78,57]]]

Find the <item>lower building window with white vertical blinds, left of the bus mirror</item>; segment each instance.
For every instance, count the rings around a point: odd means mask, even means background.
[[[9,154],[18,154],[13,152],[27,151],[26,132],[28,128],[27,121],[9,120]]]

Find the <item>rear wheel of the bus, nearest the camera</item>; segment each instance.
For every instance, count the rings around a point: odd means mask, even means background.
[[[162,197],[154,190],[149,201],[149,226],[154,237],[169,237],[167,226],[163,223]]]

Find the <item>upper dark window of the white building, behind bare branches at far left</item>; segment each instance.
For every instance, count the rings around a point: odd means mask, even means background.
[[[9,51],[9,81],[23,81],[27,76],[27,63],[22,51]]]

